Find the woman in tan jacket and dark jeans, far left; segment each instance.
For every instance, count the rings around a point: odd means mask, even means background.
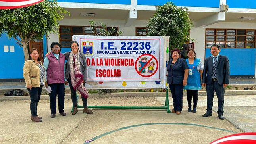
[[[45,84],[45,68],[42,61],[40,61],[39,52],[35,48],[32,48],[29,52],[29,59],[24,63],[23,77],[30,96],[31,120],[42,122],[42,117],[37,115],[37,105],[40,100],[42,86]]]

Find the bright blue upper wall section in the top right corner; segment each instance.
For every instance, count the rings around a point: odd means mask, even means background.
[[[229,8],[252,8],[256,9],[256,0],[227,0]]]

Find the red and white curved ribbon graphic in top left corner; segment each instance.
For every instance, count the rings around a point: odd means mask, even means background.
[[[0,9],[22,8],[44,0],[0,0]]]

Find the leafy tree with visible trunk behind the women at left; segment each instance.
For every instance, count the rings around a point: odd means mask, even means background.
[[[7,33],[9,38],[17,40],[23,47],[25,60],[29,58],[27,49],[30,40],[42,39],[49,33],[58,33],[58,20],[69,14],[58,6],[56,0],[44,0],[38,4],[15,9],[0,10],[0,36]],[[19,38],[20,40],[19,40]]]

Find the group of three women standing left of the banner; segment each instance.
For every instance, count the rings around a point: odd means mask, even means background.
[[[71,90],[71,99],[75,115],[77,110],[77,94],[78,90],[82,96],[83,113],[93,114],[87,107],[87,98],[89,96],[85,88],[87,80],[87,63],[83,53],[79,51],[79,44],[72,41],[70,44],[71,52],[62,54],[62,46],[58,42],[52,42],[51,52],[46,54],[44,63],[40,61],[39,52],[32,48],[29,53],[29,59],[24,63],[23,77],[25,79],[27,90],[30,96],[31,120],[42,122],[42,117],[37,115],[37,105],[40,100],[42,86],[50,86],[50,117],[56,116],[56,98],[58,96],[58,111],[60,115],[66,116],[64,112],[65,85],[69,84]],[[67,63],[65,64],[65,60]],[[65,85],[64,85],[65,84]]]

